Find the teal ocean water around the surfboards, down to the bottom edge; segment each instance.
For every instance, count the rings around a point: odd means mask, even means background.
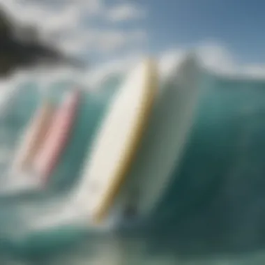
[[[8,173],[43,93],[38,83],[24,82],[3,100],[0,264],[264,264],[265,81],[260,79],[202,70],[183,156],[147,218],[114,229],[76,220],[48,225],[57,209],[70,207],[69,190],[123,77],[109,75],[97,90],[84,92],[70,142],[45,190],[18,191],[17,179]],[[56,102],[70,86],[56,82],[50,96]]]

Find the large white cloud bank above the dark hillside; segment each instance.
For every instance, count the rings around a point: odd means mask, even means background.
[[[97,52],[109,54],[133,45],[142,45],[147,40],[146,32],[140,29],[122,31],[115,27],[91,28],[89,21],[97,17],[121,21],[144,15],[135,4],[122,3],[106,6],[104,0],[0,0],[10,15],[21,24],[33,24],[40,29],[40,38],[52,41],[66,52]],[[86,19],[86,22],[84,22]]]

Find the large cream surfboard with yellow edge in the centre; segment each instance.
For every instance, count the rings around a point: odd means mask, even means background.
[[[156,63],[146,59],[116,92],[93,142],[75,195],[95,224],[103,222],[139,148],[157,92]]]

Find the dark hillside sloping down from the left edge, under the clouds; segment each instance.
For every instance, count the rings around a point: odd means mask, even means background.
[[[56,48],[38,40],[37,31],[29,27],[25,35],[0,6],[0,77],[8,77],[17,68],[27,68],[40,64],[69,64],[84,67],[84,63],[69,58]]]

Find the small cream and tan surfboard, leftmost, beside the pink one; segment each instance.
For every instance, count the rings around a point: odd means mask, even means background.
[[[13,171],[27,171],[31,168],[33,158],[40,149],[54,114],[54,105],[44,100],[31,123],[27,126],[13,164]]]

